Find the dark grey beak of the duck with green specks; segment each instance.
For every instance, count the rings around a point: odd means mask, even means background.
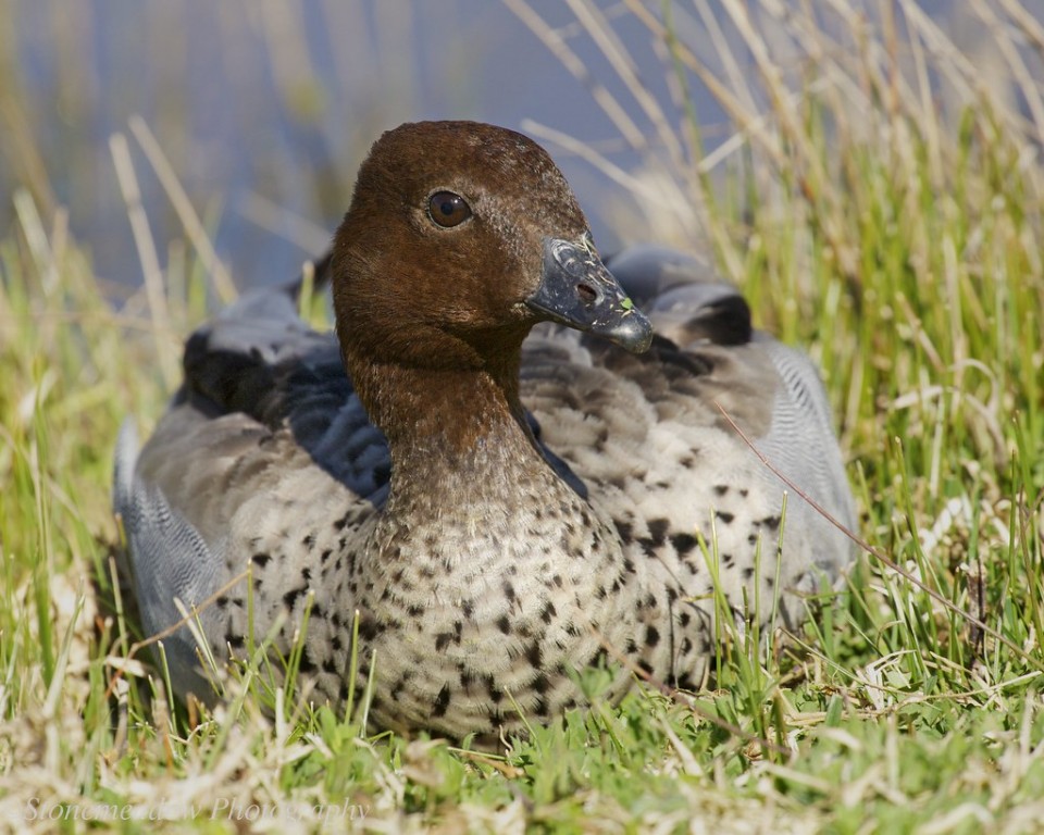
[[[542,319],[602,336],[633,353],[652,341],[649,320],[582,242],[544,239],[544,277],[525,303]]]

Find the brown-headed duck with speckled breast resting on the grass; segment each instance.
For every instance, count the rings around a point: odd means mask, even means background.
[[[694,256],[604,260],[532,139],[384,133],[316,269],[333,333],[300,282],[245,292],[116,443],[121,565],[178,696],[268,640],[314,702],[370,680],[381,728],[502,739],[586,703],[587,668],[613,700],[708,686],[723,619],[795,628],[843,582],[815,364]]]

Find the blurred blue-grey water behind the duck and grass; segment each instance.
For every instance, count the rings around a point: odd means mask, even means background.
[[[139,114],[236,283],[246,286],[293,274],[324,246],[362,154],[381,130],[402,121],[477,119],[519,128],[533,120],[634,169],[644,152],[621,139],[592,84],[605,85],[651,137],[647,115],[569,3],[532,5],[589,78],[574,77],[507,3],[495,0],[0,0],[7,22],[0,34],[0,189],[5,197],[29,182],[45,209],[48,202],[67,207],[73,234],[92,252],[98,274],[138,283],[141,267],[109,139],[126,133],[128,117]],[[643,84],[680,121],[669,62],[649,32],[623,3],[595,5]],[[872,17],[882,4],[866,5]],[[964,42],[974,40],[974,27],[960,23],[959,0],[920,5],[952,30],[964,26]],[[661,3],[650,8],[658,12]],[[695,4],[674,8],[680,32],[701,45],[700,54],[714,66],[716,50],[695,21]],[[694,97],[712,147],[726,135],[723,126],[714,129],[723,116],[698,86]],[[129,147],[165,261],[170,242],[184,237],[182,226],[133,137]],[[602,248],[656,235],[639,221],[621,221],[634,217],[623,187],[576,154],[554,145],[549,150]],[[0,232],[11,223],[5,198]]]

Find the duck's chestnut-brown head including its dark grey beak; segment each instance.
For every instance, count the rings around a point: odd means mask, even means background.
[[[333,274],[349,371],[484,367],[548,320],[634,351],[651,339],[550,157],[492,125],[384,134],[359,171]]]

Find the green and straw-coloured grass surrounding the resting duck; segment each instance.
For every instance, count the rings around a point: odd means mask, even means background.
[[[682,102],[649,111],[667,150],[638,204],[668,237],[700,229],[759,325],[822,365],[861,511],[848,587],[790,641],[724,646],[714,691],[636,687],[499,757],[249,681],[189,718],[107,590],[110,459],[176,384],[211,262],[146,260],[113,303],[64,215],[20,190],[0,240],[0,831],[1041,831],[1044,29],[982,3],[987,75],[912,3],[879,24],[795,3],[784,59],[725,0],[751,63],[710,77],[669,11],[626,5]],[[693,151],[694,84],[735,132],[720,159]]]

